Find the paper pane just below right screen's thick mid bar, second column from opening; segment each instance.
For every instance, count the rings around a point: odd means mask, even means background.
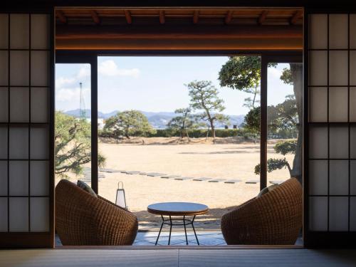
[[[330,127],[330,159],[349,157],[348,127]]]

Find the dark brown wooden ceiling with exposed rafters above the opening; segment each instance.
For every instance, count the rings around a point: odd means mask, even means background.
[[[56,10],[57,49],[302,47],[303,9]]]

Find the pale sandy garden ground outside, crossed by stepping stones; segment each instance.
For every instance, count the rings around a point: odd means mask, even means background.
[[[108,140],[105,140],[108,142]],[[107,158],[106,168],[126,171],[160,172],[182,177],[211,177],[241,179],[237,184],[224,182],[177,181],[160,177],[105,173],[99,182],[99,194],[115,201],[117,182],[123,182],[127,205],[134,212],[141,229],[155,229],[160,217],[147,212],[147,206],[162,201],[192,201],[209,206],[209,213],[197,217],[197,229],[219,229],[221,215],[248,199],[256,197],[258,184],[245,184],[248,179],[259,179],[253,169],[259,162],[259,144],[221,138],[216,145],[205,138],[179,142],[177,138],[134,138],[125,144],[99,143],[100,152]],[[283,158],[268,145],[268,157]],[[286,157],[293,161],[293,155]],[[288,179],[288,170],[268,173],[269,180]],[[73,180],[78,177],[73,177]]]

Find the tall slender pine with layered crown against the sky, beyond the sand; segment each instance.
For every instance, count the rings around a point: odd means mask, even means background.
[[[193,110],[202,110],[198,115],[200,120],[209,122],[211,136],[215,144],[216,121],[229,122],[229,117],[219,112],[225,110],[224,100],[218,97],[218,90],[209,80],[194,80],[187,85],[190,96],[190,106]]]

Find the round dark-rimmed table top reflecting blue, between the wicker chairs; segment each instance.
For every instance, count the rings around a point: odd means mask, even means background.
[[[147,206],[147,211],[152,214],[171,216],[200,215],[208,212],[208,206],[189,202],[163,202]]]

